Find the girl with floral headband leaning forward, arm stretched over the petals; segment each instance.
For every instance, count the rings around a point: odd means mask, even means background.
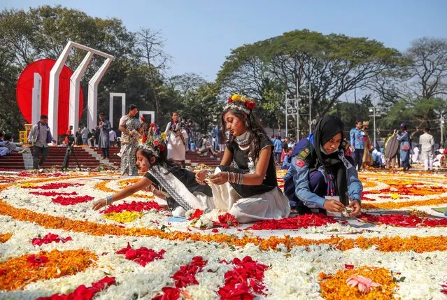
[[[125,190],[99,199],[93,209],[98,210],[114,201],[125,199],[139,190],[149,190],[155,196],[166,199],[174,217],[185,217],[186,210],[190,209],[209,212],[214,206],[211,187],[199,185],[194,173],[168,161],[165,138],[164,133],[159,137],[143,138],[136,149],[136,167],[146,174]]]

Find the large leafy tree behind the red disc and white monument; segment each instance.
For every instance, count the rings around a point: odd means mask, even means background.
[[[40,6],[28,11],[1,10],[0,39],[0,64],[2,68],[7,68],[2,80],[8,77],[8,85],[0,85],[0,94],[7,98],[7,101],[2,101],[6,105],[0,108],[0,116],[6,128],[16,128],[17,124],[23,128],[24,120],[14,101],[15,84],[20,72],[36,59],[57,59],[68,41],[76,41],[115,57],[99,85],[99,99],[108,99],[108,92],[124,83],[126,74],[132,68],[130,57],[134,52],[134,34],[127,31],[121,20],[90,17],[79,10],[62,6]],[[66,65],[76,69],[84,56],[85,51],[73,50]],[[94,57],[81,81],[84,89],[103,62],[103,58]],[[127,90],[126,87],[122,88]],[[84,96],[86,100],[86,92]],[[86,117],[87,101],[84,103],[83,118]],[[108,103],[99,101],[99,110],[107,111],[106,108]]]

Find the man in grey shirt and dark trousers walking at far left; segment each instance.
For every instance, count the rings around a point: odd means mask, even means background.
[[[50,127],[48,127],[48,117],[46,115],[41,115],[41,120],[33,126],[28,136],[28,142],[34,143],[33,167],[34,169],[41,169],[48,156],[48,143],[56,143],[52,138]],[[38,160],[40,154],[42,154],[42,157],[41,160]]]

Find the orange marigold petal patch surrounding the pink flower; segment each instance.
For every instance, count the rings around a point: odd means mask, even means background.
[[[374,287],[367,294],[360,292],[357,287],[348,287],[348,285],[346,285],[346,279],[356,275],[369,278],[374,282],[379,283],[381,286]],[[395,299],[392,294],[397,288],[390,271],[383,268],[372,268],[368,266],[362,266],[356,269],[341,269],[333,275],[320,273],[320,280],[321,297],[326,300]]]

